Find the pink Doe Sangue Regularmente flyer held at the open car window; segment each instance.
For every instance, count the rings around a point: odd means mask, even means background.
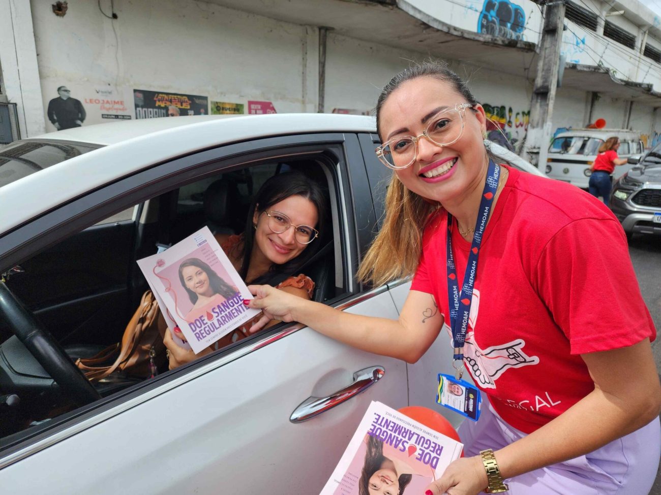
[[[243,304],[253,295],[208,227],[137,264],[196,354],[259,314]]]

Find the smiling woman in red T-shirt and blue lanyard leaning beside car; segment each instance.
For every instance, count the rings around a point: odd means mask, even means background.
[[[449,333],[438,359],[487,400],[459,428],[466,457],[426,495],[647,493],[661,449],[656,329],[621,225],[572,185],[496,164],[485,130],[446,65],[396,75],[377,102],[377,155],[394,170],[386,216],[358,276],[413,276],[399,319],[254,285],[253,330],[299,321],[411,363]]]

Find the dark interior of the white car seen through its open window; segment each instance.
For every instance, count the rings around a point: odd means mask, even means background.
[[[276,174],[299,170],[329,193],[329,225],[318,226],[320,238],[314,242],[319,243],[319,250],[301,271],[315,282],[313,299],[332,302],[346,294],[350,284],[342,255],[340,191],[332,165],[331,158],[321,154],[290,156],[182,180],[178,188],[145,198],[103,220],[95,219],[95,224],[25,259],[7,277],[7,288],[66,352],[71,368],[77,372],[73,365],[77,358],[95,356],[121,341],[142,294],[149,288],[137,259],[165,249],[203,226],[213,234],[241,234],[251,201],[262,183]],[[264,339],[281,325],[204,359]],[[13,330],[0,315],[0,439],[5,440],[22,438],[23,430],[77,408],[75,401],[63,393],[65,384],[51,378]],[[159,374],[168,371],[165,349],[154,361]],[[184,365],[177,372],[195,364]],[[108,397],[126,393],[145,380],[145,376],[114,372],[93,383],[93,387],[99,397]]]

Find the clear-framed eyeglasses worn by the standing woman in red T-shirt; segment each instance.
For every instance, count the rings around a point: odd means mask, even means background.
[[[419,136],[397,136],[379,146],[375,152],[381,163],[393,170],[411,166],[418,156],[418,141],[426,137],[438,146],[455,143],[463,133],[464,117],[469,103],[457,103],[454,108],[444,108],[429,121],[425,131]]]

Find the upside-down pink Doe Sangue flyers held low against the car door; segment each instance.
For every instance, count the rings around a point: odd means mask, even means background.
[[[373,401],[321,495],[422,494],[463,445]]]

